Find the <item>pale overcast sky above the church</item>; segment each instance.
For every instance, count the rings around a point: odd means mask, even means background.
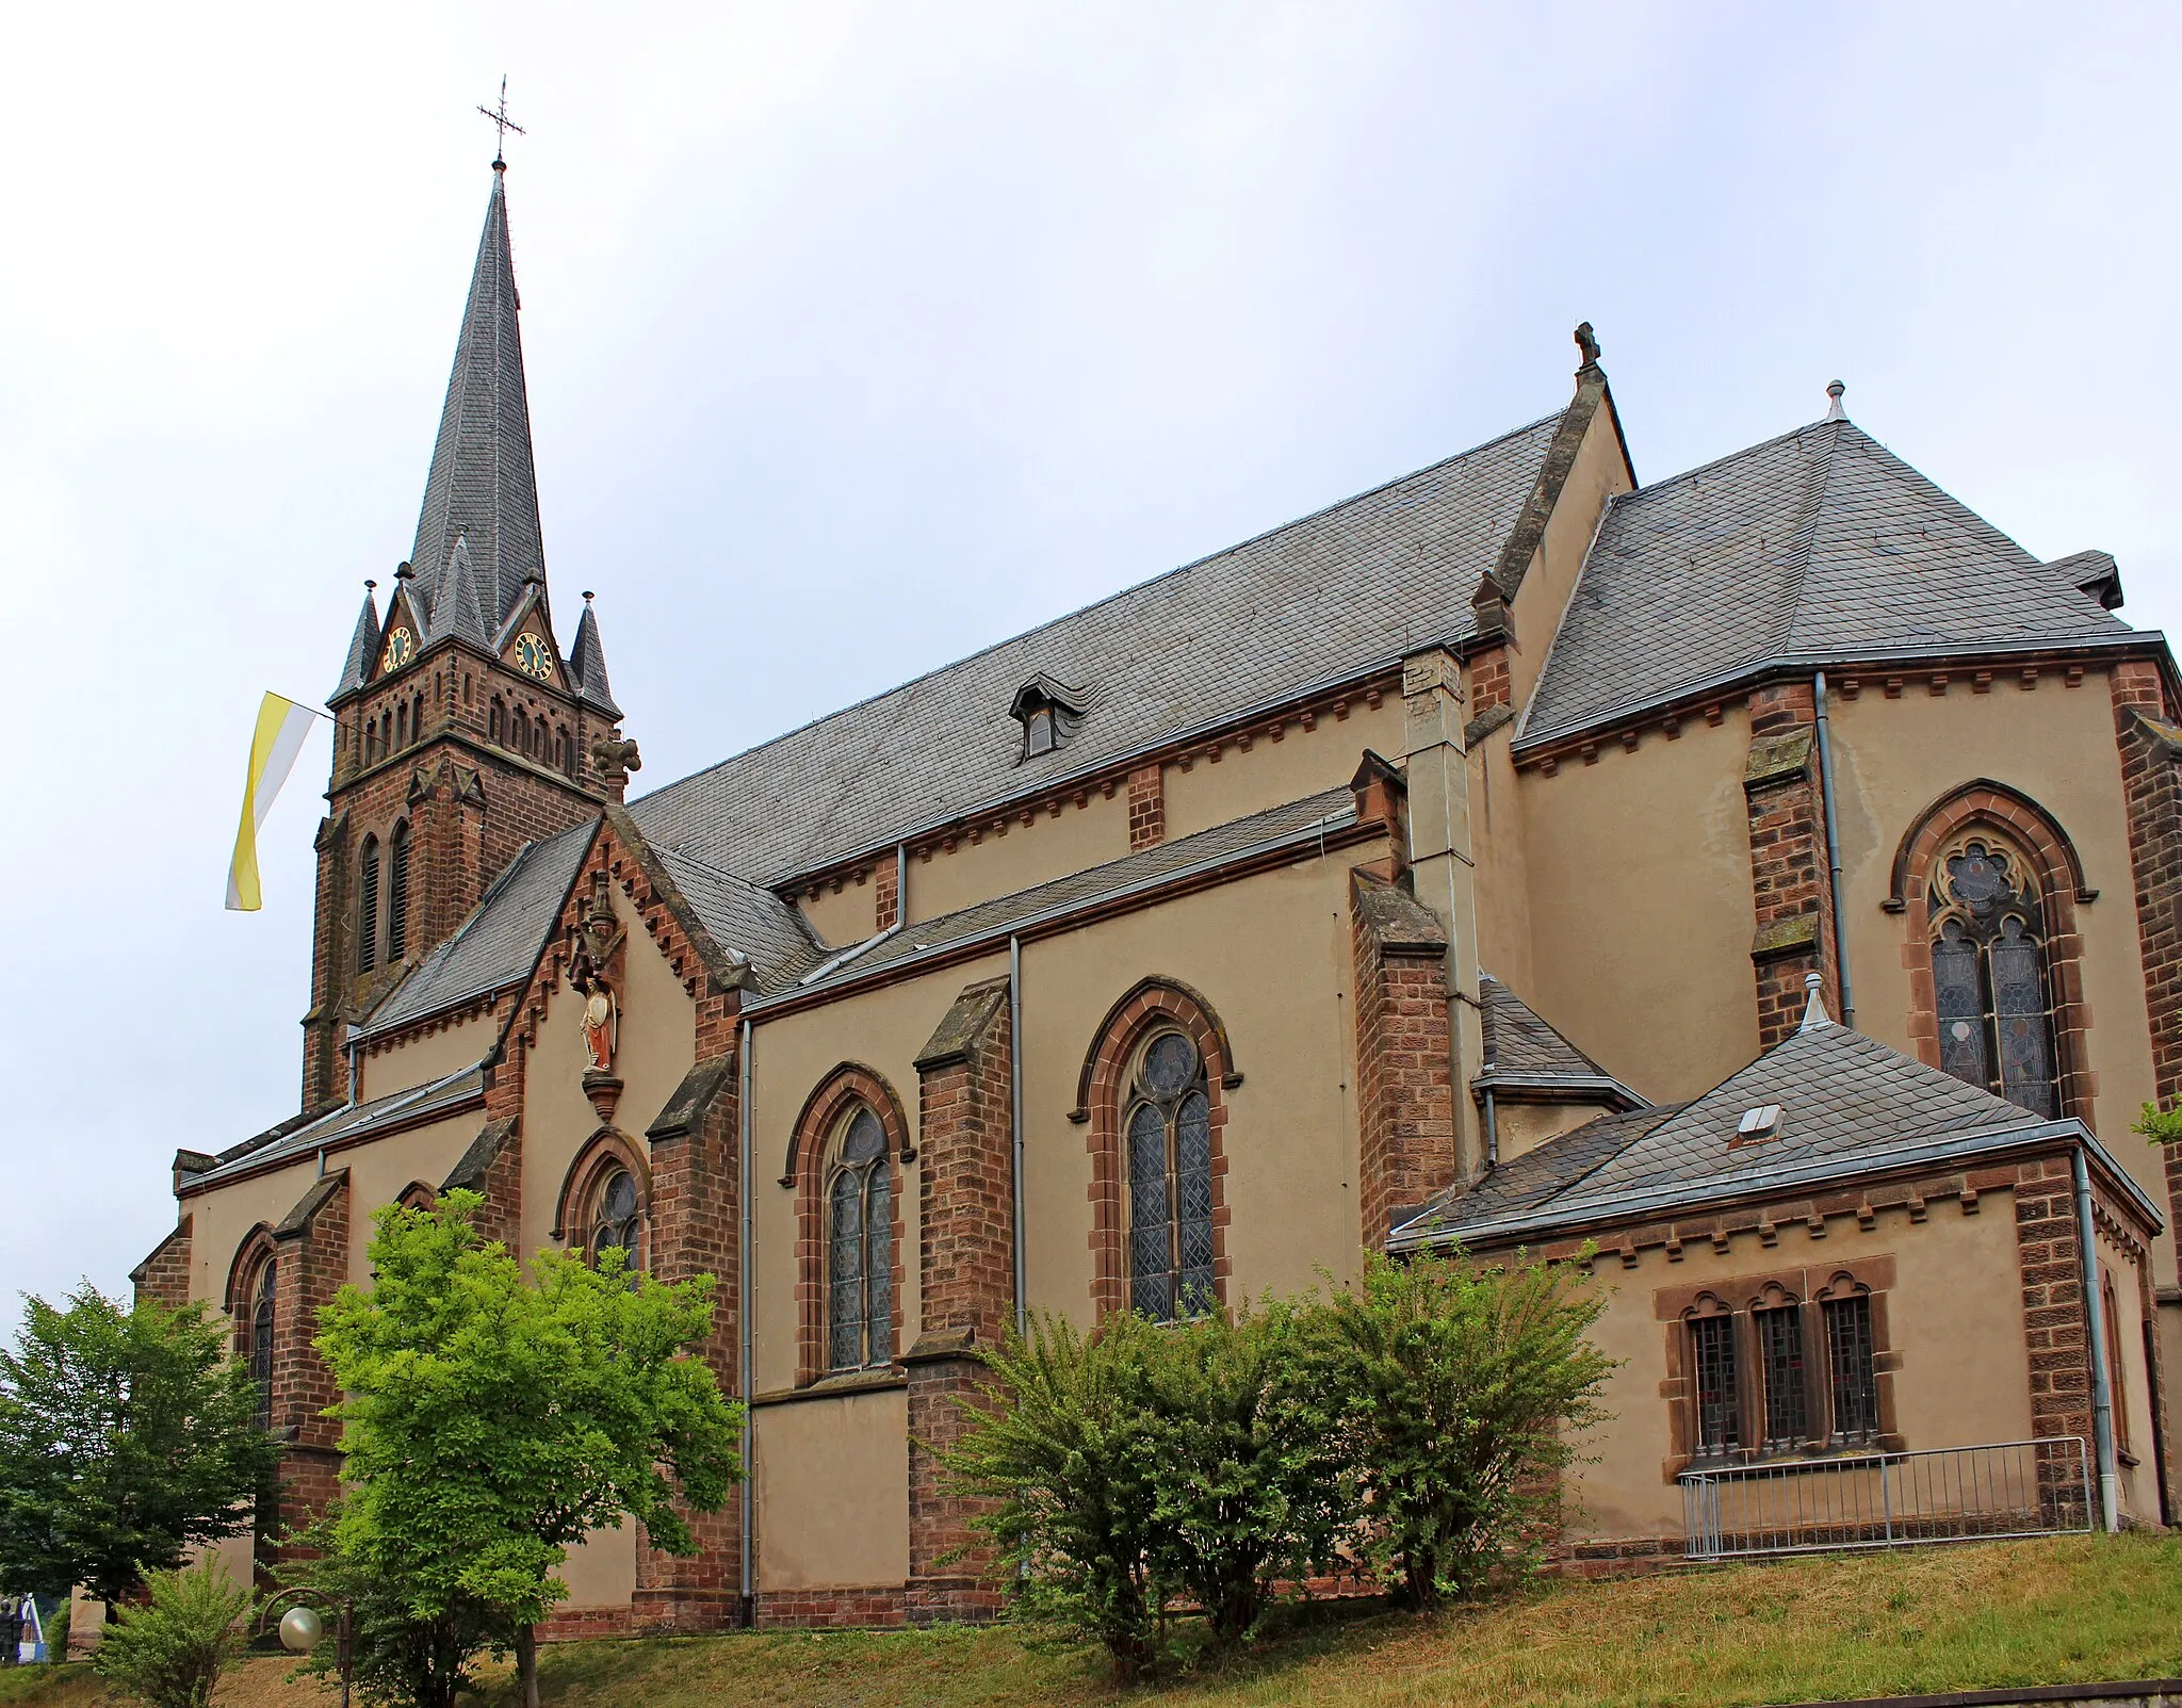
[[[0,1322],[290,1115],[303,750],[508,74],[546,521],[657,787],[1569,395],[1824,412],[2182,628],[2171,7],[28,7],[0,22]]]

